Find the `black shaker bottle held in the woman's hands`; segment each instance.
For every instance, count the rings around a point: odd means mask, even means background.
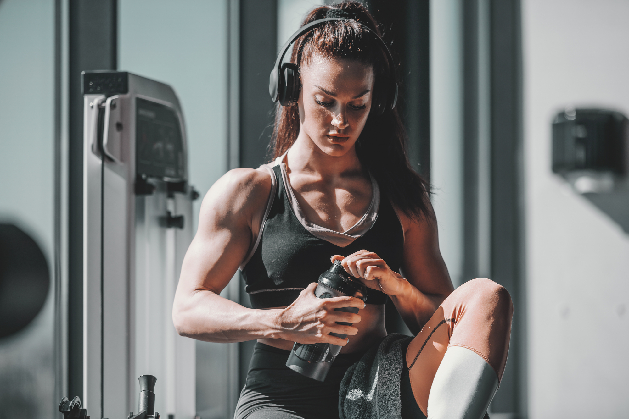
[[[367,287],[358,281],[352,280],[345,272],[340,261],[334,261],[330,269],[319,277],[319,284],[315,290],[317,298],[344,297],[367,299]],[[358,313],[356,307],[335,308],[337,312]],[[352,325],[351,323],[337,322],[337,324]],[[347,335],[331,333],[345,339]],[[291,354],[288,356],[286,366],[293,371],[303,374],[306,377],[314,378],[317,381],[324,381],[332,362],[337,358],[341,346],[319,343],[319,344],[299,344],[295,342]]]

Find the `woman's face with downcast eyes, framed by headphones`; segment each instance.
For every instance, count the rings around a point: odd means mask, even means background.
[[[367,122],[374,90],[372,67],[345,58],[313,57],[301,68],[300,136],[330,156],[352,149]]]

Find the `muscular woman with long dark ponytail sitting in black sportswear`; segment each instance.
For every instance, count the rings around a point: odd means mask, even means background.
[[[278,107],[275,160],[229,171],[203,200],[175,327],[209,342],[257,339],[237,418],[338,417],[343,375],[387,336],[391,298],[416,334],[399,360],[402,416],[482,418],[506,363],[511,300],[487,279],[454,291],[398,114],[375,109],[394,71],[377,24],[355,2],[316,8],[304,24],[327,17],[352,21],[295,42],[301,88],[296,103]],[[315,297],[316,278],[335,260],[369,287],[366,304]],[[253,309],[220,297],[239,266]],[[324,383],[284,365],[294,342],[343,346]]]

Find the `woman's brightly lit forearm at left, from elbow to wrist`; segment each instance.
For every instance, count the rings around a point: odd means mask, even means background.
[[[244,342],[281,337],[281,311],[246,308],[212,291],[201,290],[185,302],[175,300],[172,320],[182,336],[206,342]]]

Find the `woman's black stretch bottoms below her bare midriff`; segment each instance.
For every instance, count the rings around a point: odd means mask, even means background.
[[[403,352],[406,348],[403,348]],[[286,366],[290,351],[256,343],[234,419],[338,418],[338,389],[345,371],[363,352],[339,354],[321,383]],[[404,363],[406,363],[406,357]],[[400,396],[402,418],[425,418],[411,390],[404,365]]]

